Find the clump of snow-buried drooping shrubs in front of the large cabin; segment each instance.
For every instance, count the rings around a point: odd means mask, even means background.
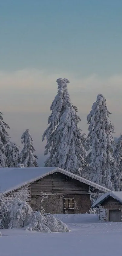
[[[68,226],[53,215],[41,215],[40,211],[33,211],[27,202],[22,202],[20,199],[13,202],[9,218],[9,229],[23,228],[44,233],[69,232]]]

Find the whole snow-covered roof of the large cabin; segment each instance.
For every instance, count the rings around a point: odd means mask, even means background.
[[[85,178],[77,176],[71,172],[55,167],[35,167],[35,168],[0,168],[0,194],[7,194],[11,191],[28,185],[40,178],[44,178],[54,172],[61,172],[71,178],[79,180],[102,192],[108,192],[109,189],[91,182]]]

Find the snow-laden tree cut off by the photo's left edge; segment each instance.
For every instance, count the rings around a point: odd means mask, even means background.
[[[9,126],[3,121],[2,113],[0,112],[0,167],[8,167],[6,144],[9,141],[9,136],[5,130],[6,128],[9,128]]]

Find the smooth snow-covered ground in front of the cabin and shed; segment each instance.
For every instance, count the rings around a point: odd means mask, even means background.
[[[1,230],[0,256],[116,256],[121,255],[122,223],[101,222],[96,215],[55,215],[69,233]]]

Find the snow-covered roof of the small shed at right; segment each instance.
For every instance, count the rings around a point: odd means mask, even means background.
[[[104,200],[106,200],[108,197],[113,197],[118,202],[122,204],[122,192],[121,191],[110,191],[108,193],[105,193],[103,196],[99,197],[96,202],[92,205],[92,208],[97,207],[99,204],[101,204]]]

